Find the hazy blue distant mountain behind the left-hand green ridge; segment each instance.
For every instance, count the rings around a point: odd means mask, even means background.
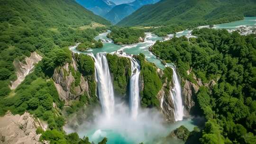
[[[99,16],[104,16],[116,6],[116,4],[110,0],[76,0],[76,2]]]

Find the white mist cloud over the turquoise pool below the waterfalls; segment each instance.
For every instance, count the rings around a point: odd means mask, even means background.
[[[140,110],[136,119],[130,117],[129,111],[128,105],[121,101],[116,102],[115,113],[110,118],[95,110],[93,120],[84,121],[76,132],[81,137],[88,136],[94,143],[107,137],[108,144],[146,144],[168,134],[169,130],[157,110]]]

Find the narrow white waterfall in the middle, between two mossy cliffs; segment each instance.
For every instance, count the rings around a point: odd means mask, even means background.
[[[130,77],[130,113],[132,118],[136,118],[139,108],[139,74],[140,65],[136,59],[130,57],[131,60],[131,77]]]

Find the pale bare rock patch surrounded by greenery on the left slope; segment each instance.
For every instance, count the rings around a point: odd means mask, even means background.
[[[21,63],[20,61],[14,61],[13,64],[16,69],[17,80],[12,82],[10,89],[16,89],[18,85],[22,81],[24,81],[27,74],[33,71],[35,64],[41,60],[42,56],[40,56],[36,52],[33,52],[31,53],[30,57],[25,58],[25,63]]]

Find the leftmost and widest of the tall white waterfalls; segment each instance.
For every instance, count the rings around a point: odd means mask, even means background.
[[[96,57],[94,57],[93,54],[90,55],[94,58],[95,77],[102,111],[110,118],[114,113],[115,100],[113,82],[110,75],[106,53],[97,53]]]

